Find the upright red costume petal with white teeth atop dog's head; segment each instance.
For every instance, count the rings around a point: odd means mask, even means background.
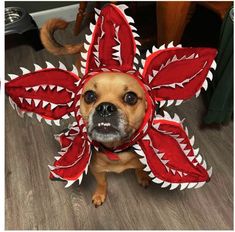
[[[124,13],[126,8],[126,5],[109,4],[101,11],[96,9],[96,24],[90,24],[92,34],[86,35],[87,53],[81,54],[86,61],[81,62],[86,68],[81,69],[83,74],[106,67],[122,71],[133,69],[134,60],[137,62],[135,54],[139,54],[136,45],[140,43],[135,40],[139,36],[134,32],[136,28],[129,25],[134,20]]]

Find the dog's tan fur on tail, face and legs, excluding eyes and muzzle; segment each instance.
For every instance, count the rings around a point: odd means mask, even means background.
[[[41,40],[45,48],[54,55],[66,55],[79,53],[82,45],[61,45],[53,34],[57,29],[65,29],[68,23],[61,19],[51,19],[47,21],[41,29]],[[146,101],[143,89],[138,82],[127,74],[121,73],[103,73],[93,77],[85,85],[83,94],[93,90],[97,94],[95,103],[86,104],[84,95],[81,98],[81,114],[87,123],[89,136],[98,140],[104,147],[113,148],[128,142],[130,136],[140,127],[145,115]],[[123,102],[123,96],[126,92],[132,91],[137,94],[138,101],[135,105],[130,106]],[[102,102],[110,102],[118,109],[117,117],[114,121],[117,124],[119,133],[102,135],[92,133],[93,131],[93,115],[96,107]],[[110,160],[102,152],[94,152],[90,164],[90,170],[96,178],[97,189],[92,197],[93,204],[97,207],[101,205],[107,194],[107,172],[120,173],[126,169],[135,169],[137,181],[144,187],[150,183],[150,178],[143,171],[143,164],[140,163],[138,156],[133,151],[125,151],[118,153],[119,160]]]

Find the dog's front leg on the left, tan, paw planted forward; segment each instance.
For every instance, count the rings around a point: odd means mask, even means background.
[[[106,173],[96,172],[92,169],[91,171],[97,181],[96,191],[92,196],[92,203],[95,205],[95,207],[98,207],[103,204],[107,194]]]

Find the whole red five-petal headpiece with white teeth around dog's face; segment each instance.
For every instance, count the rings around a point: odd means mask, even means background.
[[[81,183],[92,157],[91,147],[97,150],[100,146],[87,135],[79,111],[84,85],[101,72],[126,73],[145,91],[148,108],[139,130],[128,143],[113,148],[113,152],[133,147],[145,165],[144,170],[161,187],[199,188],[210,179],[212,168],[207,170],[199,149],[193,149],[194,137],[188,138],[179,117],[171,117],[167,112],[157,115],[155,107],[179,105],[195,94],[198,96],[201,88],[207,89],[217,52],[211,48],[174,47],[173,43],[158,49],[153,46],[141,61],[143,69],[137,69],[140,43],[132,25],[134,20],[124,13],[126,8],[108,4],[101,11],[96,10],[96,24],[91,24],[92,34],[86,36],[88,44],[84,45],[87,53],[82,53],[82,78],[75,66],[68,71],[62,63],[59,68],[49,62],[43,69],[35,65],[34,72],[21,68],[22,76],[9,74],[12,80],[6,84],[6,93],[10,103],[20,115],[35,113],[39,121],[43,118],[48,124],[59,125],[60,119],[75,116],[76,122],[69,130],[55,136],[61,151],[54,165],[49,166],[50,177],[66,180],[68,187],[76,180]]]

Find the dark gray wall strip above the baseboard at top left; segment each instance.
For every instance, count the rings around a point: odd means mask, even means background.
[[[18,6],[24,8],[28,13],[53,9],[62,6],[68,6],[77,4],[77,1],[66,1],[66,2],[40,2],[40,1],[5,1],[5,7]]]

